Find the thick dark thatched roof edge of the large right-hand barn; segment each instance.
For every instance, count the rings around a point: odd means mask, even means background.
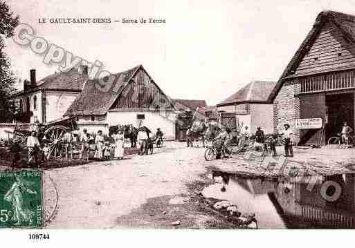
[[[275,99],[277,93],[282,88],[283,79],[289,75],[292,75],[295,67],[300,64],[302,57],[307,53],[309,46],[313,42],[313,39],[318,35],[318,31],[322,28],[323,24],[327,21],[331,21],[334,25],[343,32],[344,36],[347,37],[352,44],[355,44],[355,16],[347,15],[341,12],[335,12],[331,10],[325,10],[319,13],[316,18],[316,22],[313,24],[311,31],[309,31],[307,37],[302,42],[300,48],[293,55],[291,61],[286,66],[284,72],[282,73],[280,79],[277,81],[275,88],[272,90],[268,97],[268,102],[272,102]]]

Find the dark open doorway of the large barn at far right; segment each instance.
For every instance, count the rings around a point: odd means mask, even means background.
[[[341,133],[344,122],[354,130],[354,93],[325,96],[327,106],[326,138]]]

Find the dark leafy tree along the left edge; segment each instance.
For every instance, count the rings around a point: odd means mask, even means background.
[[[11,12],[5,1],[0,0],[0,122],[9,122],[15,113],[15,104],[10,100],[15,93],[16,79],[10,69],[10,60],[4,52],[6,38],[14,35],[19,16]]]

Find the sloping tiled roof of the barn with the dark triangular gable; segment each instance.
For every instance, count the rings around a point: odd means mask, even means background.
[[[74,100],[73,104],[68,108],[65,115],[104,115],[113,102],[116,100],[129,79],[134,76],[134,73],[140,68],[136,66],[122,73],[117,73],[117,82],[113,87],[118,90],[99,90],[100,84],[98,79],[88,80],[82,92]]]

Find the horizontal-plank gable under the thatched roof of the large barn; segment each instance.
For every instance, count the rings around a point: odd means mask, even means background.
[[[327,21],[295,74],[355,66],[354,55],[354,45],[344,39],[343,33],[333,23]]]

